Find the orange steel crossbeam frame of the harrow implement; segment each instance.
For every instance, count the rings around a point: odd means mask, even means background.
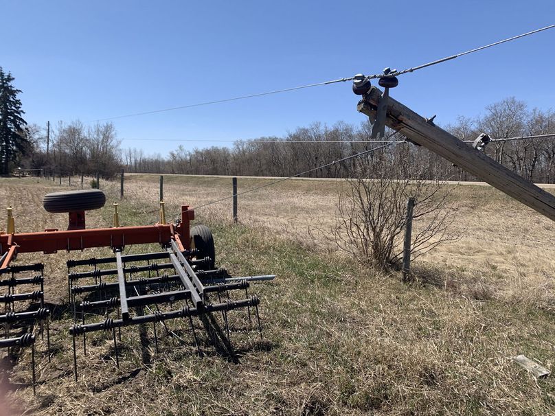
[[[19,253],[43,252],[52,254],[58,250],[74,251],[91,247],[123,249],[126,244],[169,244],[175,240],[181,251],[190,249],[190,221],[194,210],[188,205],[181,207],[181,222],[155,224],[140,227],[113,227],[102,229],[45,230],[39,233],[0,234],[0,269],[10,266]]]

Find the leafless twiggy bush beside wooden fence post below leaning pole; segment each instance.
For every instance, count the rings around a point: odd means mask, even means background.
[[[422,179],[431,172],[411,165],[413,150],[401,152],[405,152],[405,163],[394,161],[391,152],[370,154],[365,163],[352,169],[350,186],[339,195],[339,220],[332,241],[341,251],[377,268],[396,267],[402,259],[406,204],[411,196],[416,198],[413,259],[456,239],[449,233],[453,222],[446,205],[449,189],[437,179]]]

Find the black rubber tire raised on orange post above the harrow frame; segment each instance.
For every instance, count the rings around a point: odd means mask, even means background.
[[[52,192],[43,199],[43,207],[47,212],[89,211],[104,207],[106,196],[100,189],[82,191]]]

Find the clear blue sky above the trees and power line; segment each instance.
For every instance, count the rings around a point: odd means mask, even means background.
[[[555,1],[0,0],[0,65],[27,122],[83,122],[404,69],[555,23]],[[448,124],[515,96],[555,105],[555,30],[400,77],[391,95]],[[114,119],[122,147],[167,154],[358,124],[350,83]],[[133,140],[141,139],[141,140]],[[211,142],[212,140],[212,142]]]

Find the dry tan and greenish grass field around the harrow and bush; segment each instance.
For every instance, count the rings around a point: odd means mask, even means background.
[[[239,192],[265,183],[240,178]],[[165,176],[164,185],[168,216],[181,203],[201,207],[231,194],[229,178]],[[100,184],[109,202],[120,203],[122,225],[157,221],[157,176],[126,177],[122,201],[119,186]],[[231,200],[196,210],[214,231],[218,265],[232,275],[277,275],[252,288],[264,340],[245,331],[240,316],[232,325],[235,360],[207,340],[199,354],[184,327],[185,343],[162,337],[144,365],[137,330],[127,328],[121,369],[100,334],[87,356],[79,351],[75,382],[65,262],[108,251],[19,256],[46,265],[47,301],[58,308],[54,348],[48,362],[38,343],[36,397],[30,352],[16,361],[3,354],[0,415],[555,414],[552,378],[536,380],[512,361],[525,354],[553,366],[555,224],[490,187],[457,186],[451,231],[459,239],[420,257],[417,280],[407,285],[396,273],[359,266],[326,239],[344,186],[294,180],[239,196],[239,224]],[[41,204],[43,194],[61,189],[70,189],[67,182],[0,179],[0,205],[14,207],[17,231],[64,229],[67,218]],[[111,220],[107,203],[89,213],[87,226]]]

